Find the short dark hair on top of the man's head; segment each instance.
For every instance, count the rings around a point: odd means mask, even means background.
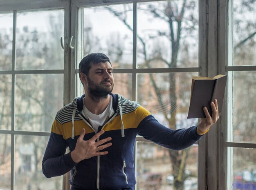
[[[86,76],[88,76],[89,70],[92,67],[92,65],[96,65],[101,62],[105,63],[106,61],[108,61],[110,63],[108,56],[106,56],[105,54],[102,54],[102,53],[88,54],[79,63],[79,75],[80,75],[80,73],[83,73]],[[110,65],[111,65],[111,63],[110,63]]]

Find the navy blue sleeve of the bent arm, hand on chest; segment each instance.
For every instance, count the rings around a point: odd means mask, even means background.
[[[45,177],[61,176],[76,165],[70,152],[65,154],[66,149],[67,144],[63,136],[51,132],[42,162]]]

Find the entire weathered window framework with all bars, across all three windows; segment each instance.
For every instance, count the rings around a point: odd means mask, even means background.
[[[112,0],[108,4],[145,2],[146,0]],[[231,4],[232,0],[199,0],[199,67],[194,68],[173,68],[173,69],[137,69],[136,57],[133,56],[132,69],[114,69],[115,73],[132,73],[132,100],[136,101],[136,83],[137,73],[163,73],[163,72],[199,72],[200,76],[215,76],[217,74],[226,74],[229,71],[255,71],[256,66],[228,66],[228,61],[232,61],[232,54],[228,54],[228,48],[232,47],[231,25],[228,18],[232,18]],[[64,105],[70,103],[75,96],[76,86],[76,64],[81,60],[76,51],[80,51],[79,43],[81,34],[78,34],[79,8],[90,6],[106,5],[104,0],[9,0],[0,2],[0,13],[13,12],[13,28],[16,26],[16,11],[31,10],[49,10],[65,9],[65,27],[64,27],[64,69],[61,70],[29,70],[15,71],[15,59],[12,60],[11,71],[0,71],[0,74],[12,75],[12,97],[11,97],[11,130],[0,130],[0,134],[11,135],[11,190],[13,190],[14,178],[14,136],[35,135],[49,136],[49,132],[22,132],[14,130],[14,97],[15,97],[15,75],[16,74],[64,74]],[[136,12],[134,18],[136,18]],[[136,20],[135,20],[136,21]],[[133,29],[136,30],[136,22]],[[16,53],[15,29],[13,29],[13,55]],[[70,49],[70,38],[73,36]],[[133,55],[136,55],[136,36],[133,36]],[[227,95],[227,90],[226,93]],[[207,135],[198,142],[198,189],[217,190],[228,189],[227,187],[227,147],[238,148],[256,148],[256,143],[231,143],[227,141],[227,96],[223,103],[222,114],[215,127],[212,127]],[[137,141],[144,141],[140,137]],[[224,150],[224,151],[223,151]],[[67,190],[68,174],[63,176],[63,190]]]

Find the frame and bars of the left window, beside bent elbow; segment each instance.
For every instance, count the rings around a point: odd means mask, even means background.
[[[3,5],[2,5],[3,4]],[[63,69],[54,70],[15,70],[16,64],[16,20],[17,11],[42,11],[51,9],[64,9],[64,63]],[[70,36],[70,3],[68,1],[52,0],[51,2],[42,0],[0,2],[0,13],[13,13],[13,44],[12,44],[12,68],[8,71],[0,71],[0,75],[10,74],[11,84],[11,130],[0,130],[0,134],[11,135],[11,190],[14,189],[14,154],[15,135],[49,136],[50,132],[30,132],[15,130],[15,76],[17,74],[63,74],[63,103],[70,103],[70,49],[68,48]],[[61,44],[60,44],[61,45]],[[65,176],[64,176],[65,177]],[[63,180],[64,181],[64,180]],[[64,183],[63,183],[64,187]]]

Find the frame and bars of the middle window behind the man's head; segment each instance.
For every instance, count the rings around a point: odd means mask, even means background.
[[[122,3],[133,3],[133,9],[137,10],[137,3],[138,2],[150,2],[153,0],[112,0],[111,2],[105,2],[104,0],[97,0],[92,2],[90,0],[72,0],[71,4],[71,20],[75,21],[72,22],[71,26],[71,35],[76,38],[76,48],[73,49],[71,55],[71,86],[76,87],[76,75],[78,74],[78,69],[76,68],[77,61],[80,61],[82,58],[81,55],[81,33],[79,31],[79,23],[81,22],[82,18],[82,11],[81,8],[85,7],[97,7],[103,5],[110,5],[110,4],[122,4]],[[212,27],[216,27],[217,25],[217,4],[215,5],[214,2],[207,4],[205,1],[199,0],[199,67],[191,67],[191,68],[157,68],[157,69],[137,69],[136,67],[136,55],[137,55],[137,37],[133,34],[133,62],[132,62],[132,69],[113,69],[113,73],[131,73],[132,74],[132,101],[136,101],[136,92],[137,92],[137,77],[136,74],[138,73],[170,73],[170,72],[198,72],[199,76],[216,76],[218,74],[217,68],[217,33],[213,30],[211,33],[208,32],[208,27],[212,25]],[[213,7],[209,11],[208,7]],[[209,19],[211,18],[211,19]],[[76,23],[76,25],[75,25]],[[211,28],[211,27],[209,27]],[[137,11],[133,12],[133,31],[137,33]],[[208,45],[208,43],[211,45]],[[208,50],[208,51],[207,51]],[[78,51],[78,53],[76,53]],[[211,56],[208,56],[211,55]],[[223,74],[223,73],[222,73]],[[225,73],[224,73],[225,74]],[[76,96],[76,89],[71,89],[71,96]],[[220,125],[220,123],[218,123]],[[215,127],[216,129],[217,127]],[[216,162],[218,159],[215,155],[216,144],[217,144],[217,134],[215,131],[210,131],[209,135],[205,135],[199,142],[198,142],[198,189],[205,189],[208,185],[208,181],[210,181],[211,186],[212,183],[217,186],[217,170],[214,168],[213,175],[207,175],[207,163],[209,162]],[[137,137],[136,141],[147,141],[143,137]],[[207,147],[208,145],[208,147]],[[208,151],[210,150],[210,151]],[[135,147],[136,152],[136,147]],[[135,155],[136,156],[136,155]],[[207,157],[207,156],[210,156]],[[210,161],[207,160],[211,159]],[[208,162],[207,162],[208,161]],[[136,160],[135,160],[136,163]],[[202,164],[203,163],[203,164]],[[202,180],[204,179],[204,180]],[[210,187],[210,186],[209,186]],[[217,188],[216,188],[217,189]],[[214,190],[216,190],[214,189]],[[68,189],[65,189],[68,190]]]

